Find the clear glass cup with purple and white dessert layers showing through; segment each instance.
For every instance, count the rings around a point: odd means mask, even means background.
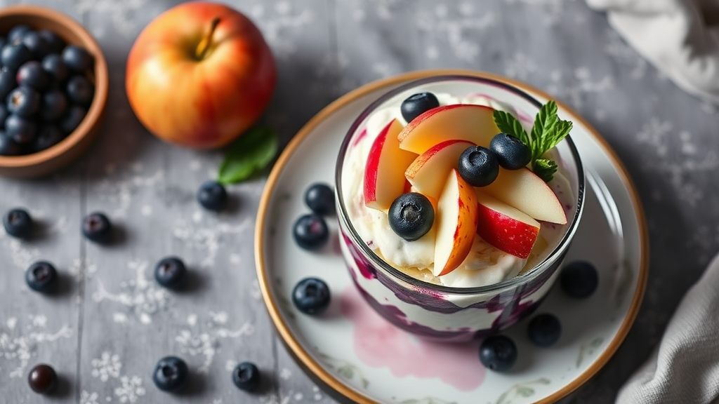
[[[565,206],[567,224],[556,248],[521,275],[493,285],[456,288],[419,280],[398,270],[376,254],[353,226],[345,206],[342,170],[359,138],[367,134],[370,116],[388,106],[398,108],[403,99],[421,91],[486,96],[513,106],[518,118],[530,127],[541,103],[508,83],[489,78],[470,75],[423,78],[395,88],[370,104],[354,121],[339,150],[335,173],[339,237],[354,285],[377,313],[400,329],[435,341],[469,341],[502,331],[539,306],[559,275],[557,269],[579,224],[585,175],[577,149],[567,136],[557,145],[555,160],[568,180],[574,206]]]

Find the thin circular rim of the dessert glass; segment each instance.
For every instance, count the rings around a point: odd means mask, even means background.
[[[344,196],[342,195],[342,167],[344,167],[344,156],[347,154],[347,149],[349,148],[349,144],[352,141],[352,137],[354,135],[354,132],[357,132],[357,129],[362,122],[367,119],[367,117],[372,113],[372,111],[375,111],[377,107],[384,104],[385,101],[388,99],[398,95],[399,93],[402,93],[403,91],[408,90],[409,88],[413,88],[416,86],[421,86],[423,84],[429,84],[429,83],[436,83],[438,81],[474,81],[479,83],[487,83],[492,86],[498,86],[500,88],[503,88],[506,91],[510,91],[511,93],[515,93],[516,95],[520,96],[521,98],[524,98],[526,101],[528,101],[530,104],[536,106],[538,109],[541,107],[541,102],[534,98],[533,96],[526,93],[526,91],[521,90],[520,88],[516,88],[515,86],[510,85],[509,83],[505,83],[503,81],[498,81],[492,78],[482,78],[477,77],[473,75],[433,75],[426,78],[420,78],[418,80],[409,81],[407,83],[403,83],[400,86],[397,86],[393,88],[392,90],[384,93],[382,96],[377,98],[375,101],[372,101],[370,105],[368,105],[359,116],[357,116],[356,119],[352,122],[352,126],[349,127],[349,130],[347,131],[347,134],[345,134],[344,139],[342,140],[342,145],[339,147],[339,154],[337,155],[337,162],[335,166],[335,184],[336,184],[336,197],[337,197],[337,205],[338,205],[338,214],[339,214],[339,220],[344,223],[345,227],[347,228],[347,231],[349,231],[349,237],[352,239],[352,242],[356,244],[362,252],[362,254],[367,258],[367,260],[370,260],[372,264],[377,265],[381,268],[381,270],[384,270],[385,272],[390,275],[390,277],[395,277],[403,282],[406,282],[411,285],[418,285],[420,288],[425,288],[429,290],[433,290],[439,293],[447,293],[452,295],[476,295],[480,293],[493,293],[498,292],[500,290],[505,290],[509,288],[513,288],[517,285],[522,285],[528,280],[531,280],[544,272],[544,270],[551,267],[551,265],[547,265],[548,262],[551,260],[556,259],[559,257],[564,250],[566,250],[569,247],[569,242],[571,241],[572,237],[574,236],[574,233],[577,231],[577,225],[580,221],[580,216],[582,214],[582,209],[584,208],[584,194],[585,194],[585,172],[584,172],[584,166],[582,165],[582,160],[580,159],[579,152],[577,151],[577,147],[574,144],[574,141],[572,141],[572,135],[568,134],[567,137],[564,138],[564,140],[567,141],[567,144],[569,146],[569,152],[571,152],[572,157],[574,158],[574,163],[577,165],[577,206],[574,208],[574,215],[572,215],[572,220],[569,221],[569,229],[567,229],[567,232],[564,233],[564,237],[562,237],[562,240],[560,240],[559,244],[557,244],[557,247],[552,250],[550,254],[547,255],[547,257],[542,260],[541,262],[534,265],[530,270],[527,272],[516,275],[514,277],[511,277],[510,279],[503,280],[498,283],[493,283],[492,285],[482,285],[482,286],[473,286],[470,288],[457,288],[453,286],[445,286],[445,285],[437,285],[436,283],[429,283],[425,280],[420,280],[416,277],[413,277],[411,275],[406,274],[405,272],[402,272],[398,270],[397,268],[390,265],[388,262],[383,260],[380,256],[378,256],[374,250],[372,250],[365,240],[362,239],[362,237],[359,236],[359,233],[357,233],[357,230],[354,229],[354,226],[352,226],[352,222],[349,221],[349,215],[347,214],[347,208],[344,206]],[[544,270],[542,270],[544,268]]]

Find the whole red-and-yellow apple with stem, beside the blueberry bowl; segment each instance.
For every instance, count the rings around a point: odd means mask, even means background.
[[[193,1],[140,33],[125,87],[135,115],[155,136],[213,148],[257,121],[275,81],[272,52],[252,21],[224,4]]]

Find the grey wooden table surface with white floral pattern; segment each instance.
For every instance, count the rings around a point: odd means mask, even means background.
[[[26,3],[27,1],[22,1]],[[232,0],[262,29],[278,62],[267,121],[282,144],[317,111],[364,83],[420,68],[502,73],[567,101],[599,129],[636,183],[651,238],[646,298],[608,365],[563,403],[610,403],[656,346],[674,307],[719,247],[718,115],[675,87],[580,0]],[[0,1],[2,5],[16,1]],[[0,231],[0,403],[43,403],[25,382],[33,364],[55,366],[52,403],[333,403],[285,352],[260,298],[253,258],[265,176],[229,188],[234,209],[194,201],[219,152],[150,136],[124,92],[134,38],[173,0],[44,0],[88,27],[110,69],[108,113],[88,155],[43,180],[0,178],[0,211],[24,206],[44,235],[18,242]],[[328,157],[329,158],[329,157]],[[111,247],[85,242],[81,218],[104,211],[122,226]],[[196,288],[167,293],[150,277],[178,254]],[[24,285],[27,266],[55,262],[64,293]],[[165,354],[186,358],[187,395],[150,380]],[[229,369],[256,362],[270,377],[240,392]]]

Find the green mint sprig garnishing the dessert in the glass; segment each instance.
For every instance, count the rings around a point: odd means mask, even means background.
[[[533,173],[549,183],[557,172],[557,163],[542,157],[572,131],[572,122],[562,121],[557,116],[557,103],[547,101],[541,106],[530,134],[524,130],[519,119],[508,112],[495,110],[494,121],[500,131],[516,137],[529,147]]]

